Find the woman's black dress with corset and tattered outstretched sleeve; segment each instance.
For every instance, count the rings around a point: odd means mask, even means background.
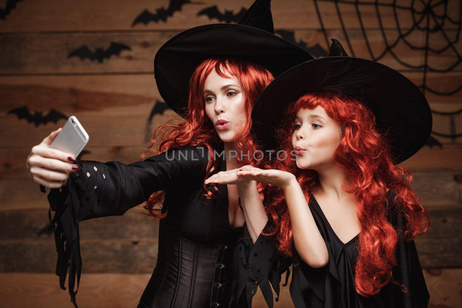
[[[223,144],[215,149],[220,153]],[[217,159],[213,174],[226,170],[224,156]],[[69,293],[76,307],[74,281],[77,274],[79,283],[82,264],[79,221],[123,215],[162,189],[166,189],[162,212],[168,210],[168,215],[159,223],[157,265],[138,308],[229,305],[233,250],[243,228],[229,223],[226,184],[219,185],[218,199],[203,196],[207,162],[205,146],[177,147],[129,165],[75,162],[82,170],[68,181],[68,187],[51,189],[48,199],[56,212],[56,274],[65,290],[69,267]]]

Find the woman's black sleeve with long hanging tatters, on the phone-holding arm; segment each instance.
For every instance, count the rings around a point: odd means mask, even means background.
[[[82,268],[79,221],[123,215],[149,199],[152,193],[170,185],[201,181],[207,161],[207,151],[182,146],[129,165],[80,159],[74,162],[81,170],[67,181],[68,187],[50,189],[48,200],[50,224],[56,227],[56,275],[60,277],[61,289],[66,290],[64,283],[69,268],[69,294],[76,308],[75,295],[79,290]],[[46,193],[42,185],[40,190]],[[51,211],[55,211],[53,219]],[[74,292],[76,276],[77,290]]]

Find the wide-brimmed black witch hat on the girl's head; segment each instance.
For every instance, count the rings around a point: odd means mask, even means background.
[[[334,91],[365,103],[385,134],[395,163],[413,156],[432,131],[432,112],[419,88],[401,73],[383,64],[349,57],[332,39],[329,56],[295,66],[274,79],[252,109],[262,129],[255,136],[266,148],[277,148],[274,130],[287,105],[310,91]]]

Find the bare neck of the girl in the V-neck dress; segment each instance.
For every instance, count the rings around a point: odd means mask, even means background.
[[[346,193],[342,185],[345,183],[345,171],[333,164],[327,168],[316,170],[319,179],[319,186],[316,187],[316,193],[328,195],[335,200],[350,198],[350,194]]]

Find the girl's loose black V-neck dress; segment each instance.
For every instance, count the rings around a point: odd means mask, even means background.
[[[311,196],[310,210],[326,243],[329,261],[326,266],[313,268],[301,260],[294,249],[290,294],[296,308],[426,308],[428,306],[430,296],[414,241],[407,242],[402,237],[405,216],[398,214],[396,207],[393,206],[395,204],[395,194],[392,190],[389,190],[387,198],[389,205],[391,205],[389,206],[389,221],[398,230],[398,242],[396,245],[397,266],[392,269],[393,278],[404,284],[408,293],[403,293],[401,288],[389,282],[374,296],[365,297],[359,295],[353,284],[354,262],[358,257],[359,235],[346,243],[341,242],[328,223],[316,199]],[[260,241],[262,239],[263,236],[261,236]],[[268,243],[273,242],[274,238],[267,236],[266,241]],[[245,249],[246,247],[243,246],[243,248]],[[264,272],[260,274],[262,276],[267,275],[267,280],[273,284],[276,290],[280,275],[288,269],[291,258],[280,256],[275,245],[255,245],[255,247],[252,247],[250,243],[248,253],[250,254],[248,257],[249,263],[253,261],[254,265],[251,266],[250,273],[241,270],[241,284],[251,286],[249,275],[258,270],[257,264],[265,264],[267,258],[273,258],[273,260],[279,260],[274,263],[275,267],[265,267]],[[264,257],[261,258],[261,255]],[[252,258],[255,260],[252,260]],[[263,296],[270,303],[269,306],[272,307],[273,294],[263,292]]]

